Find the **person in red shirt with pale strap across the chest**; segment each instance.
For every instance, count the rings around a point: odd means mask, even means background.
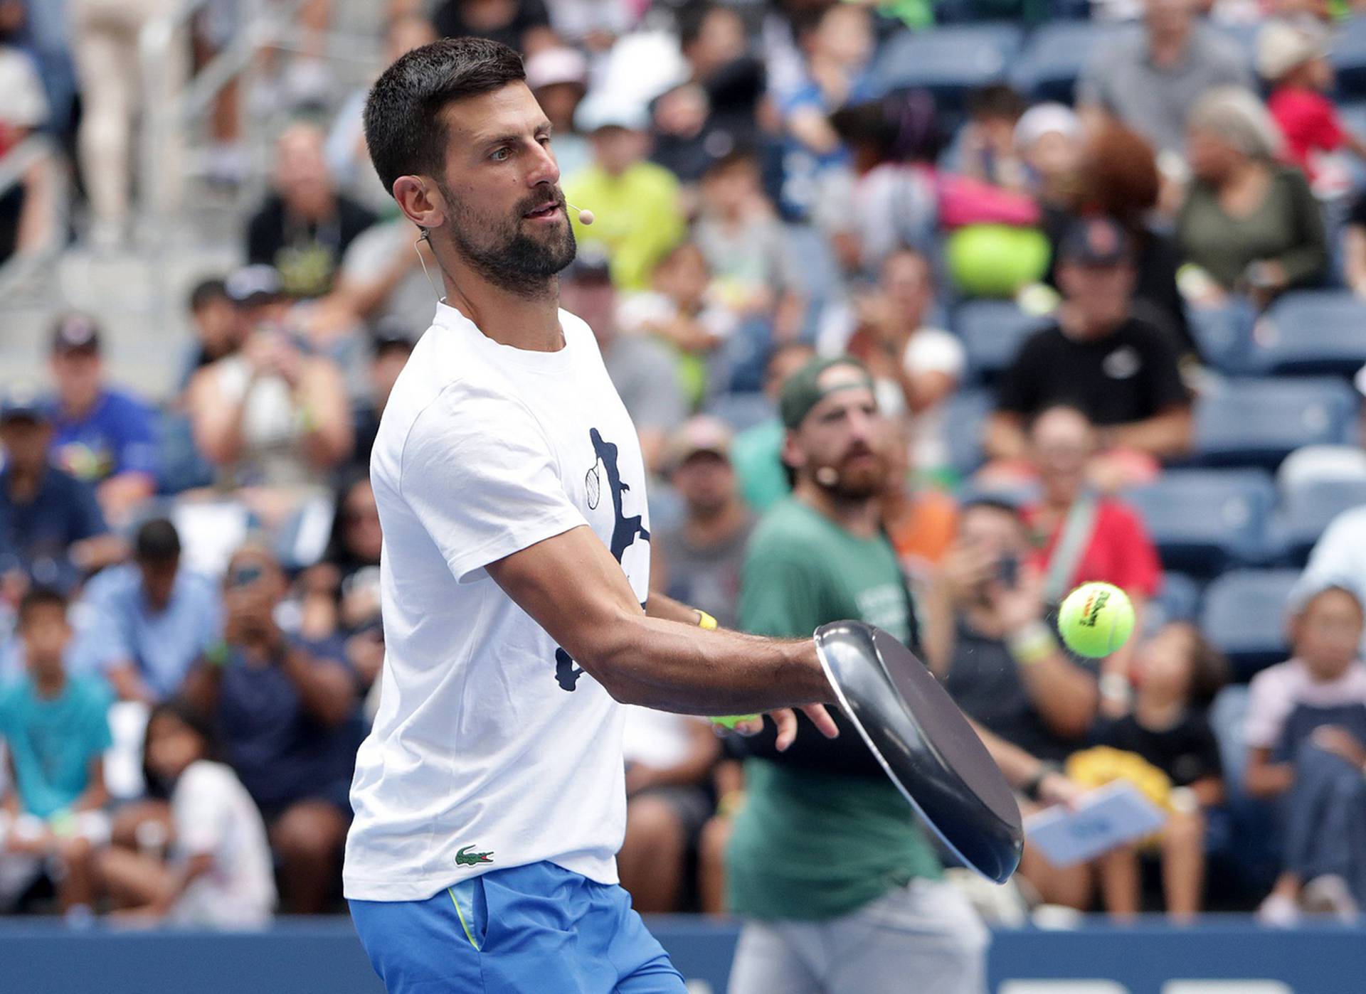
[[[1044,576],[1044,602],[1056,606],[1068,591],[1091,580],[1113,583],[1128,594],[1138,617],[1135,628],[1142,631],[1147,601],[1162,583],[1162,567],[1142,519],[1087,486],[1097,457],[1090,419],[1075,407],[1041,411],[1030,426],[1030,457],[1044,493],[1020,516],[1033,537],[1031,561]],[[1101,694],[1115,713],[1130,705],[1132,644],[1126,643],[1102,664]]]

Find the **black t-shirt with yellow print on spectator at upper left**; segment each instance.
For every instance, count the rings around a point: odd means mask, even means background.
[[[313,224],[290,214],[272,194],[247,228],[247,261],[275,266],[290,296],[322,296],[332,289],[347,247],[377,220],[347,197],[337,197],[336,205],[331,218]]]

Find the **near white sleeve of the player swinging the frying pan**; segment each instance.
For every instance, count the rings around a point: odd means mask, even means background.
[[[587,524],[545,431],[488,386],[448,386],[410,430],[399,490],[460,583],[505,556]]]

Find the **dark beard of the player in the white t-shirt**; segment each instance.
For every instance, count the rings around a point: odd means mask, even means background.
[[[518,205],[508,223],[496,221],[451,195],[443,184],[441,193],[451,205],[451,243],[475,273],[494,287],[525,298],[540,298],[553,292],[552,279],[571,262],[578,251],[574,227],[564,209],[564,198],[556,191],[560,212],[564,213],[563,233],[550,232],[544,239],[522,231],[522,214],[545,202],[545,195]]]

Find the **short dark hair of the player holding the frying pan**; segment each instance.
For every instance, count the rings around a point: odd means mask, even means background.
[[[526,79],[522,56],[488,38],[443,38],[395,60],[365,101],[365,143],[384,188],[410,173],[441,176],[441,111]]]

